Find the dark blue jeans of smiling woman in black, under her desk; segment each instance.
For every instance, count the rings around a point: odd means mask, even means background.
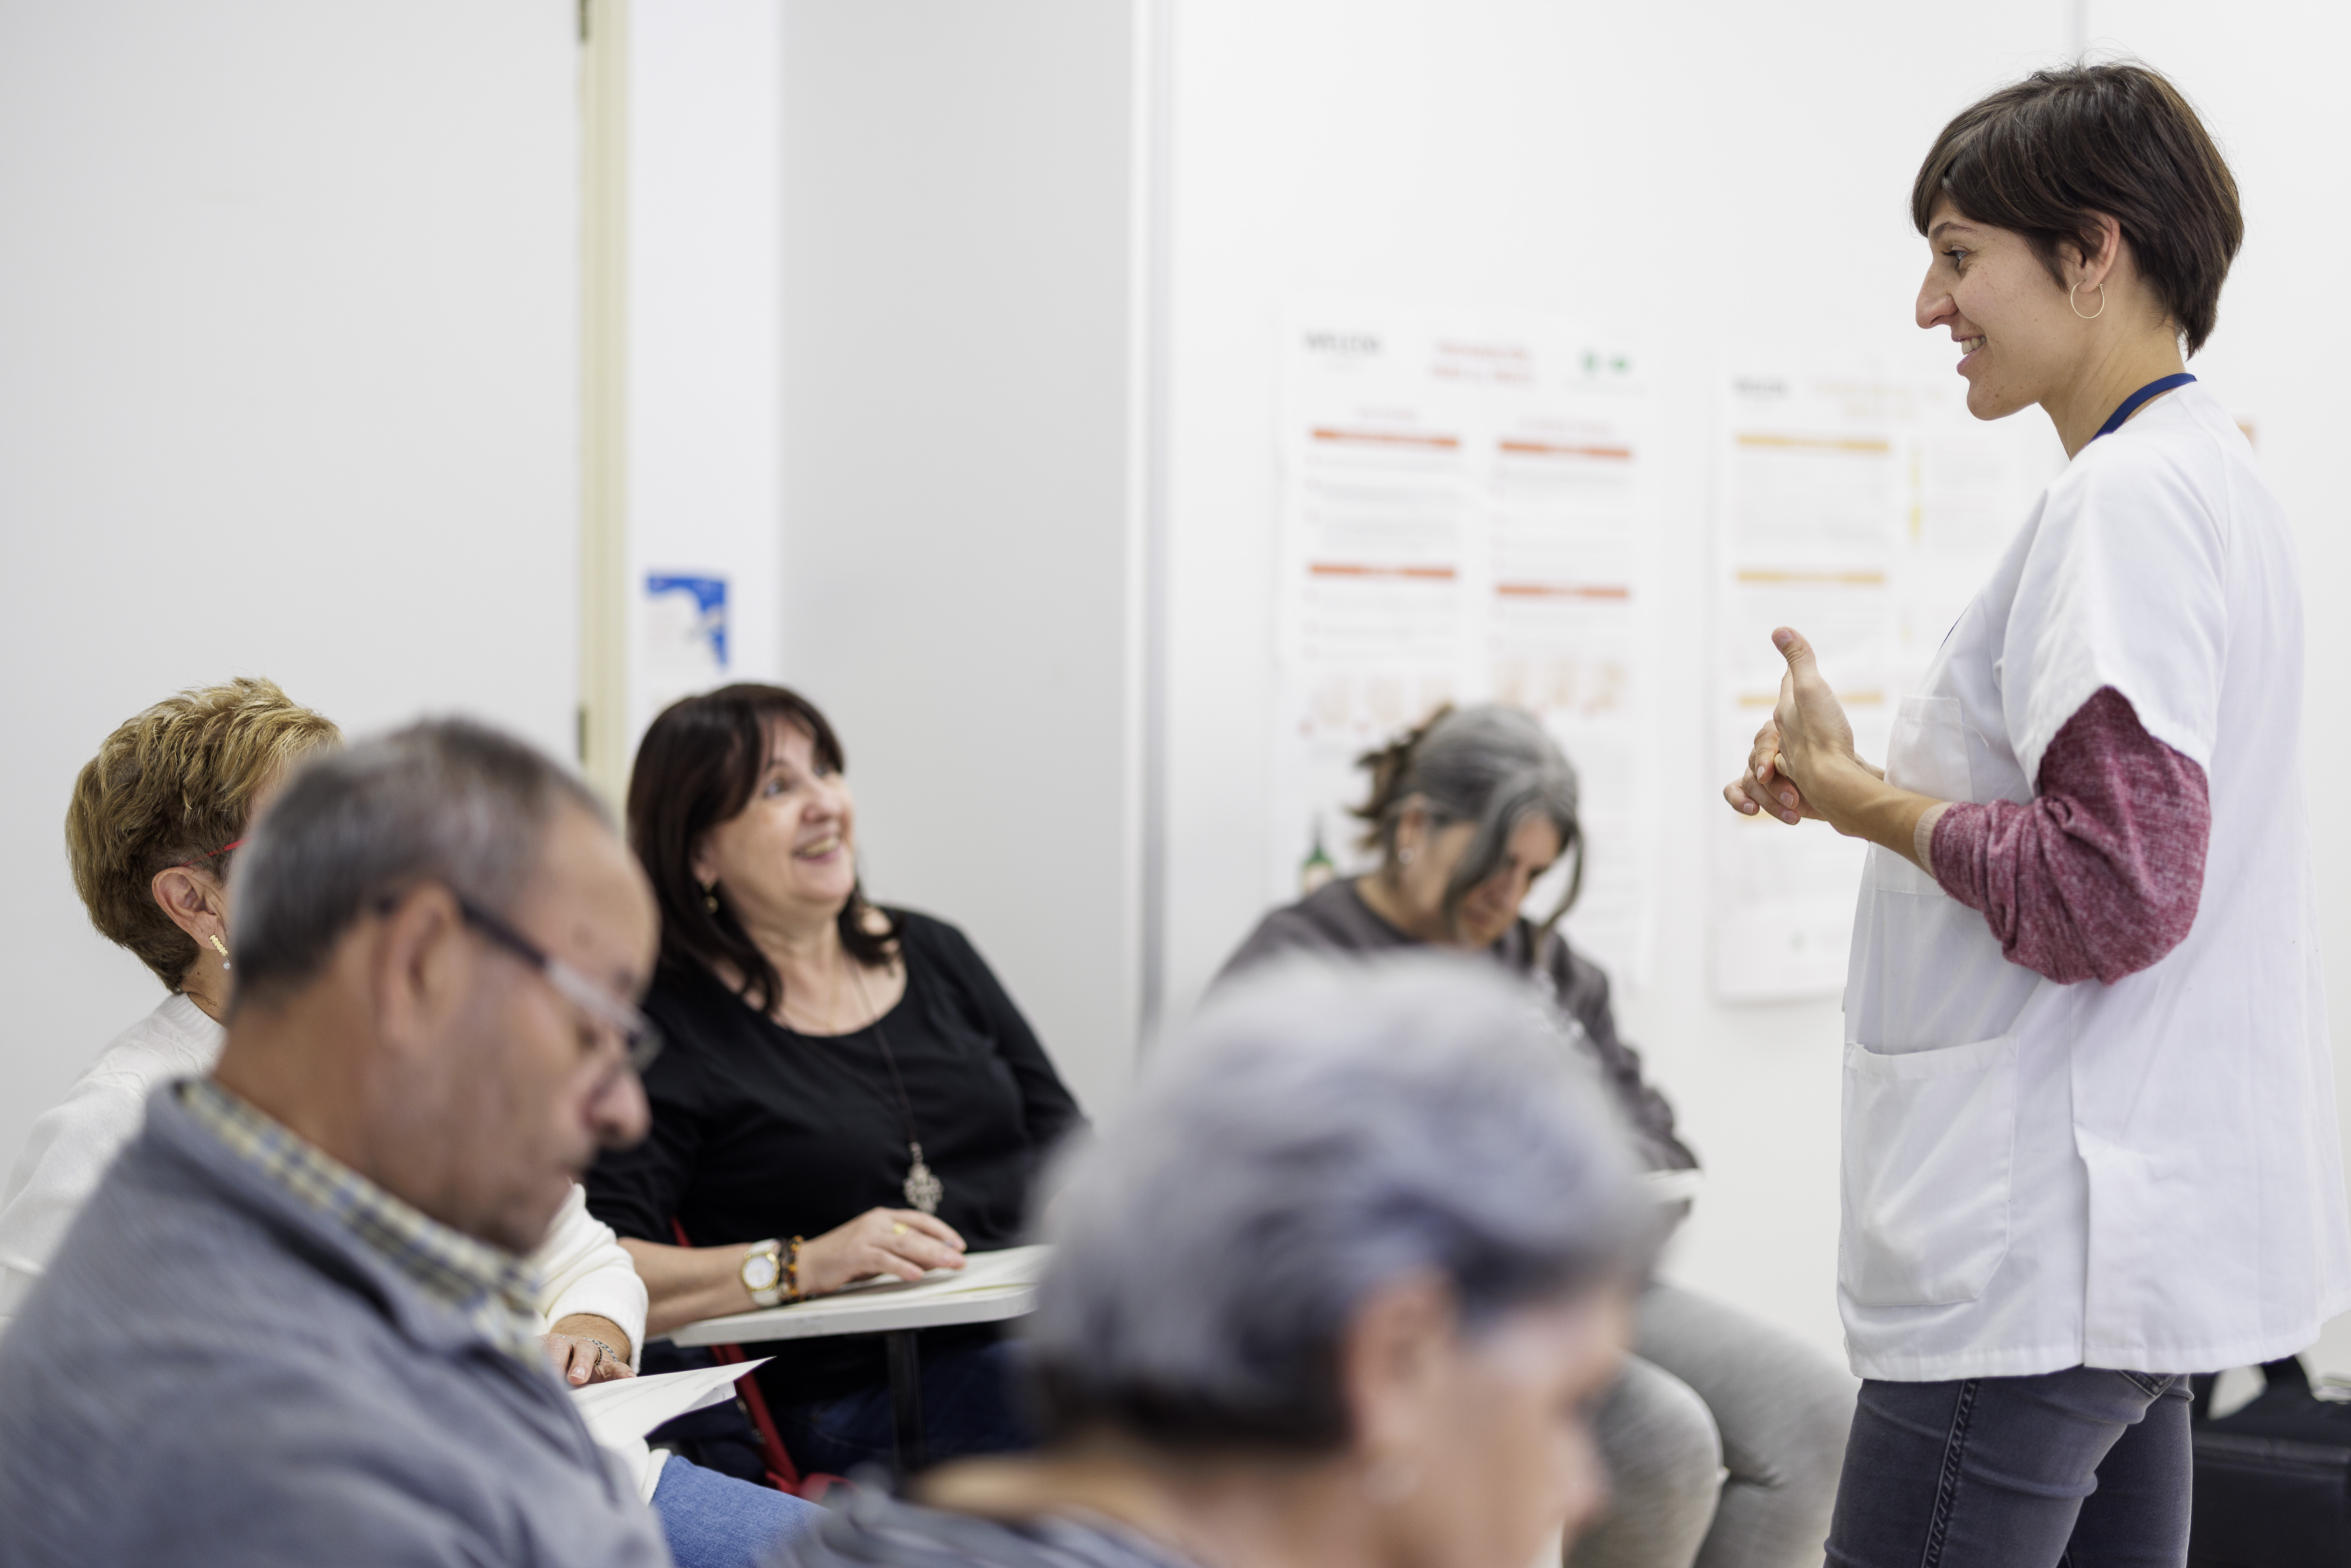
[[[860,1465],[891,1462],[889,1382],[806,1406],[769,1406],[776,1434],[799,1474],[846,1476]],[[922,1446],[926,1458],[1034,1448],[1037,1436],[1013,1406],[1013,1347],[990,1340],[922,1359]]]

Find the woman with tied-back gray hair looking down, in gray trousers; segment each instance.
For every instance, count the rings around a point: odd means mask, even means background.
[[[1357,816],[1380,867],[1267,914],[1225,976],[1300,950],[1488,952],[1582,1025],[1648,1166],[1695,1168],[1674,1107],[1617,1039],[1608,976],[1556,929],[1585,846],[1575,769],[1542,724],[1516,708],[1446,710],[1364,766],[1371,799]],[[1575,856],[1563,898],[1528,919],[1519,905],[1561,856]],[[1634,1359],[1599,1415],[1615,1500],[1570,1568],[1817,1563],[1853,1396],[1853,1378],[1808,1345],[1653,1281],[1639,1298]]]

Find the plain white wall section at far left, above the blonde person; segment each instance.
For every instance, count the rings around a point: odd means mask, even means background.
[[[571,755],[571,0],[0,0],[0,1166],[162,994],[59,823],[270,675]]]

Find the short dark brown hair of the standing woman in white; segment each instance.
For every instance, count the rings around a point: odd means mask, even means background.
[[[2132,63],[2034,71],[1961,110],[1911,186],[1921,235],[1942,197],[2024,235],[2059,287],[2057,247],[2095,256],[2097,216],[2111,216],[2189,353],[2212,336],[2245,242],[2229,160],[2179,89]]]

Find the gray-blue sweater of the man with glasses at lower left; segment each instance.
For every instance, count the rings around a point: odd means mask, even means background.
[[[0,1568],[668,1561],[545,1366],[172,1088],[0,1338]]]

